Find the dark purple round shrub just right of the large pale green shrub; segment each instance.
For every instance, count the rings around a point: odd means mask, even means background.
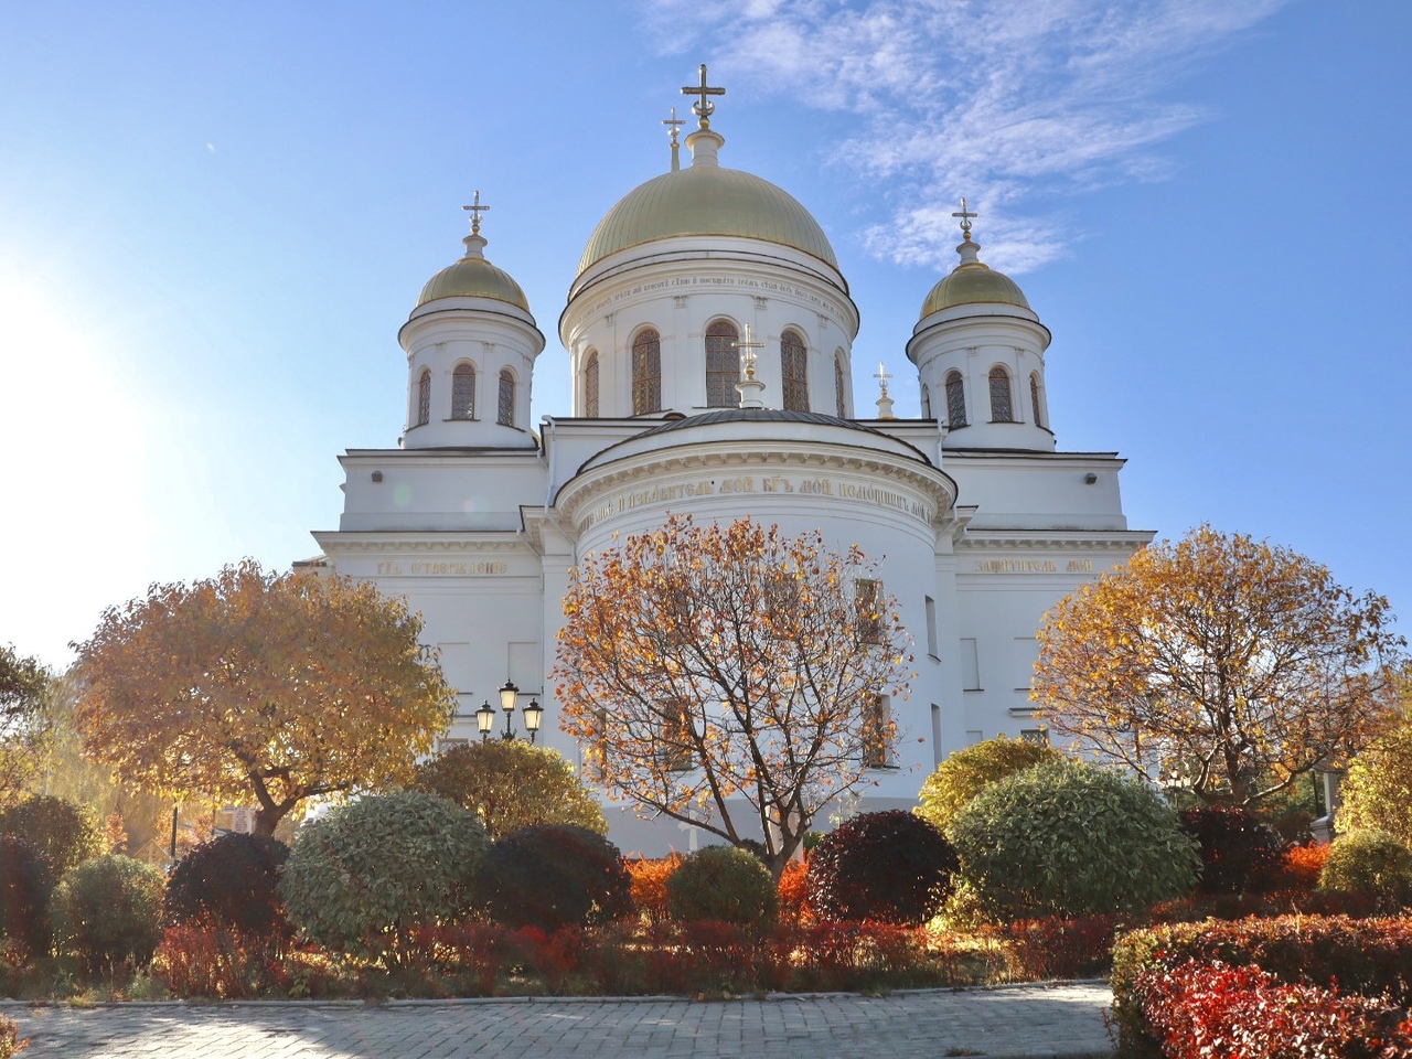
[[[597,832],[570,823],[524,827],[490,847],[480,891],[507,926],[586,926],[633,912],[623,853]]]

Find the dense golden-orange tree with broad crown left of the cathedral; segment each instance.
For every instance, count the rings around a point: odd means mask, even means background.
[[[422,623],[370,583],[246,561],[155,585],[76,645],[85,751],[128,784],[258,805],[411,778],[453,709]]]

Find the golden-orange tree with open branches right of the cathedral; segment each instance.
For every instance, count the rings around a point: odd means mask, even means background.
[[[1248,806],[1382,730],[1406,642],[1392,621],[1327,568],[1203,525],[1045,616],[1032,698],[1059,736]]]

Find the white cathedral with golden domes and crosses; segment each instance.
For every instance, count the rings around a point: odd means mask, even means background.
[[[860,808],[911,808],[950,751],[1042,737],[1029,702],[1041,616],[1152,534],[1127,527],[1123,460],[1056,449],[1049,330],[980,261],[964,201],[960,263],[921,298],[907,345],[921,418],[892,415],[885,380],[857,408],[858,312],[833,247],[788,192],[720,164],[705,66],[690,93],[689,164],[674,127],[671,169],[609,210],[569,285],[569,414],[530,421],[545,337],[486,258],[477,195],[465,256],[398,332],[402,436],[340,459],[343,515],[313,534],[311,563],[421,611],[459,692],[448,740],[479,738],[477,706],[513,683],[521,706],[542,703],[539,741],[582,764],[545,675],[583,555],[668,511],[856,544],[881,562],[916,659],[909,696],[887,703],[898,736]],[[675,822],[604,812],[624,850],[686,846]]]

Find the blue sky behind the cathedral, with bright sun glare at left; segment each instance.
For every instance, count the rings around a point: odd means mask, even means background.
[[[54,665],[104,606],[335,528],[391,446],[397,329],[487,256],[549,346],[593,226],[665,169],[710,65],[722,161],[825,226],[904,345],[950,212],[1055,335],[1062,449],[1130,463],[1134,528],[1295,548],[1412,627],[1405,0],[0,0],[0,642]],[[867,369],[871,374],[873,369]]]

